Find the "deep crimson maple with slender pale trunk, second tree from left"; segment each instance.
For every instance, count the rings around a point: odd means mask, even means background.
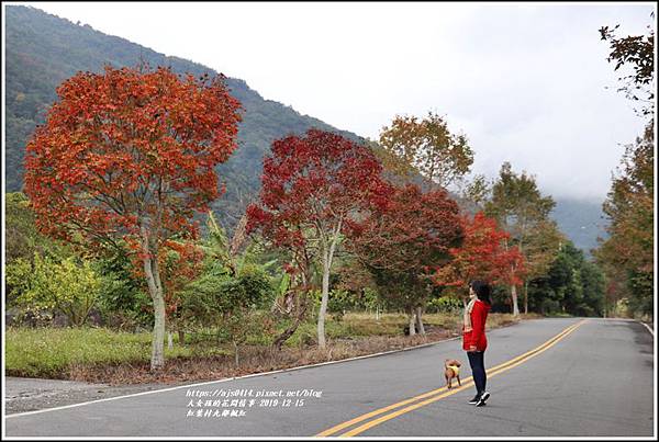
[[[380,171],[366,146],[310,129],[304,136],[272,143],[272,154],[264,160],[260,201],[247,208],[248,229],[258,229],[275,246],[290,250],[303,276],[311,262],[322,263],[321,348],[334,253],[346,223],[384,197]]]

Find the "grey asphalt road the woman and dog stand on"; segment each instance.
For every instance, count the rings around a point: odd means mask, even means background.
[[[460,341],[451,340],[377,358],[10,415],[4,431],[8,438],[656,438],[654,337],[643,325],[538,319],[489,331],[488,338],[491,398],[480,408],[467,404],[474,393],[471,373]],[[444,388],[446,358],[465,362],[461,388]],[[222,404],[227,392],[236,396]],[[232,410],[238,416],[231,416]]]

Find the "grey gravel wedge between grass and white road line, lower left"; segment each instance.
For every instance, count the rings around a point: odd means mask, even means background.
[[[110,386],[108,384],[7,376],[4,377],[4,412],[12,415],[41,410],[175,385],[178,384]]]

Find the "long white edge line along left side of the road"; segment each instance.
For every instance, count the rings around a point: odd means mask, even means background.
[[[271,371],[271,372],[253,373],[253,374],[247,374],[247,375],[238,376],[238,377],[225,377],[225,378],[222,378],[222,379],[206,381],[206,382],[201,382],[201,383],[197,383],[197,384],[177,385],[176,387],[170,387],[170,388],[159,388],[159,389],[153,389],[153,390],[142,392],[142,393],[132,393],[130,395],[123,395],[123,396],[105,397],[103,399],[94,399],[94,400],[88,400],[86,403],[64,405],[62,407],[53,407],[53,408],[44,408],[44,409],[41,409],[41,410],[34,410],[34,411],[16,412],[16,413],[12,413],[12,415],[4,415],[4,418],[5,419],[9,419],[9,418],[19,418],[19,417],[23,417],[23,416],[38,415],[38,413],[47,412],[47,411],[56,411],[56,410],[64,410],[64,409],[67,409],[67,408],[82,407],[85,405],[97,404],[97,403],[104,403],[104,401],[108,401],[108,400],[124,399],[126,397],[145,396],[145,395],[150,395],[150,394],[154,394],[154,393],[172,392],[175,389],[192,388],[192,387],[199,387],[199,386],[202,386],[202,385],[217,384],[217,383],[222,383],[222,382],[236,381],[236,379],[245,379],[247,377],[266,376],[266,375],[269,375],[269,374],[292,372],[292,371],[295,371],[295,370],[312,369],[312,367],[316,367],[316,366],[321,366],[321,365],[330,365],[330,364],[337,364],[337,363],[340,363],[340,362],[356,361],[358,359],[376,358],[376,356],[381,356],[381,355],[384,355],[384,354],[398,353],[398,352],[402,352],[402,351],[421,349],[423,347],[436,345],[438,343],[454,341],[456,339],[460,339],[460,337],[454,337],[454,338],[444,339],[444,340],[440,340],[440,341],[422,343],[420,345],[407,347],[405,349],[389,350],[389,351],[383,351],[383,352],[373,353],[373,354],[362,354],[361,356],[347,358],[347,359],[342,359],[342,360],[338,360],[338,361],[326,361],[326,362],[320,362],[317,364],[300,365],[300,366],[293,366],[293,367],[290,367],[290,369],[275,370],[275,371]]]

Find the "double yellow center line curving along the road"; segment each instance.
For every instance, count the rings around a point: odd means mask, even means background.
[[[554,338],[551,338],[547,342],[536,347],[535,349],[527,351],[526,353],[521,354],[507,362],[504,362],[503,364],[499,364],[496,366],[491,367],[490,370],[487,370],[488,376],[490,376],[490,377],[495,376],[500,373],[509,371],[509,370],[528,361],[532,358],[537,356],[538,354],[543,353],[544,351],[556,345],[557,342],[559,342],[561,339],[563,339],[565,337],[570,335],[572,331],[577,330],[585,321],[587,321],[585,319],[581,320],[581,321],[566,328],[560,333],[556,335]],[[349,438],[349,437],[362,433],[364,431],[368,430],[369,428],[378,426],[390,419],[396,418],[401,415],[404,415],[406,412],[410,412],[412,410],[415,410],[417,408],[421,408],[428,404],[432,404],[436,400],[439,400],[444,397],[455,395],[456,393],[459,393],[459,392],[470,387],[471,385],[473,385],[473,379],[472,379],[472,377],[468,377],[463,381],[462,386],[460,386],[460,387],[453,388],[453,389],[447,389],[446,387],[442,387],[442,388],[434,389],[432,392],[424,393],[418,396],[414,396],[410,399],[405,399],[400,403],[392,404],[392,405],[383,407],[383,408],[379,408],[375,411],[367,412],[366,415],[361,415],[355,419],[350,419],[348,421],[345,421],[343,423],[334,426],[323,432],[317,433],[316,437],[317,438],[324,438],[324,437],[328,437],[328,435],[335,437],[335,435],[337,435],[338,432],[340,432],[342,430],[344,430],[348,427],[353,427],[356,423],[362,422],[362,421],[373,418],[376,416],[384,415],[377,419],[372,419],[366,423],[362,423],[361,426],[356,427],[349,431],[346,431],[343,434],[338,434],[338,437],[340,437],[340,438]],[[421,399],[425,399],[425,400],[421,400]],[[403,406],[406,406],[406,407],[401,408]],[[393,410],[395,410],[395,411],[393,411]],[[388,411],[391,411],[391,412],[388,413]]]

